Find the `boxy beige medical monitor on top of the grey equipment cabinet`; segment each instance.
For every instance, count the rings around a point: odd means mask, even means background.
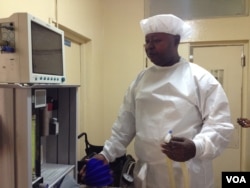
[[[0,19],[0,83],[65,81],[64,32],[29,13]]]

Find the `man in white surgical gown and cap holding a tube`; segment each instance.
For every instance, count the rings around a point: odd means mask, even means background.
[[[135,139],[135,187],[170,187],[172,171],[182,188],[185,162],[188,187],[212,188],[212,160],[227,147],[234,129],[224,90],[208,71],[179,56],[180,40],[190,34],[183,20],[156,15],[140,24],[154,66],[128,88],[112,135],[95,158],[111,162]],[[169,130],[173,137],[166,143]]]

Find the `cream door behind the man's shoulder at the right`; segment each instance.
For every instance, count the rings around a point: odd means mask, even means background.
[[[240,171],[240,126],[242,101],[242,54],[244,45],[191,46],[193,62],[209,70],[222,84],[230,103],[234,136],[228,148],[214,160],[215,187],[221,187],[221,172]]]

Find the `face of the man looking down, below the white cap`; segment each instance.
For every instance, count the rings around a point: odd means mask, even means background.
[[[167,33],[150,33],[145,37],[148,58],[158,66],[171,66],[178,62],[177,52],[180,37]]]

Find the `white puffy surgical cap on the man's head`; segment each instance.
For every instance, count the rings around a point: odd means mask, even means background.
[[[180,35],[186,39],[191,34],[191,27],[182,19],[173,14],[160,14],[140,21],[140,26],[145,35],[149,33],[168,33]]]

